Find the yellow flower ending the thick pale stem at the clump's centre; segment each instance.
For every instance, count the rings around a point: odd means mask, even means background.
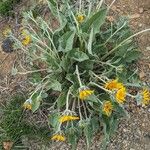
[[[90,90],[90,89],[83,89],[83,90],[80,90],[79,91],[79,98],[81,100],[84,100],[86,99],[87,97],[89,97],[90,95],[92,95],[94,93],[93,90]]]

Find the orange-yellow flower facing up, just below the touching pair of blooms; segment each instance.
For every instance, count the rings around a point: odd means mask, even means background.
[[[106,101],[103,104],[103,108],[102,108],[103,112],[107,115],[110,116],[112,111],[113,111],[113,105],[110,101]]]

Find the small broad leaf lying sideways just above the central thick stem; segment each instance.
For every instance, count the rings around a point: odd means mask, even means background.
[[[72,49],[72,51],[68,53],[68,57],[78,62],[82,62],[89,59],[88,55],[80,51],[79,49]]]

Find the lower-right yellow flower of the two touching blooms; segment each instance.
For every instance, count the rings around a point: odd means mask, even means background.
[[[126,97],[126,88],[121,88],[116,93],[116,101],[120,104],[123,104],[125,102]]]

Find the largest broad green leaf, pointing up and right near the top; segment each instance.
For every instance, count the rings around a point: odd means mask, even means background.
[[[101,9],[89,18],[82,26],[83,32],[88,32],[90,27],[93,27],[94,34],[99,32],[101,25],[104,23],[107,14],[107,9]]]

